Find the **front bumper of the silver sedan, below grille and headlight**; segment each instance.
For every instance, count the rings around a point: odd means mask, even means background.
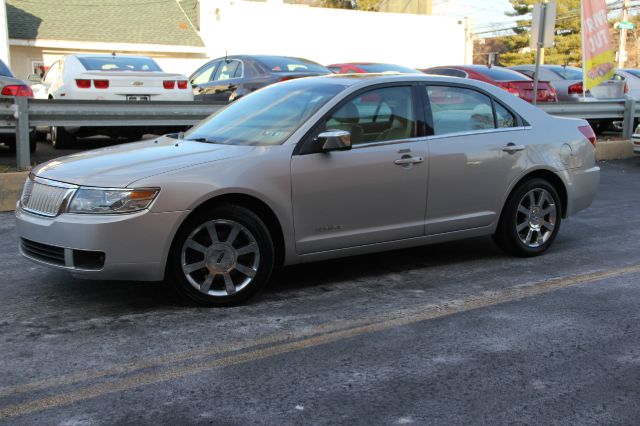
[[[18,203],[20,252],[36,263],[80,278],[160,281],[173,236],[188,214],[143,210],[112,215],[63,213],[48,218],[26,212]],[[50,258],[36,256],[37,250],[53,254]],[[87,267],[79,262],[85,253],[103,256],[100,265]]]

